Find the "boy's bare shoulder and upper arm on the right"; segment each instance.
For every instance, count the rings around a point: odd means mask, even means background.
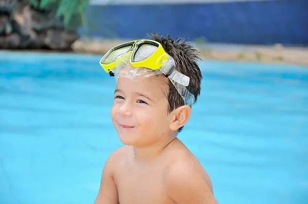
[[[177,203],[218,203],[210,178],[188,150],[177,151],[166,171],[168,196]]]

